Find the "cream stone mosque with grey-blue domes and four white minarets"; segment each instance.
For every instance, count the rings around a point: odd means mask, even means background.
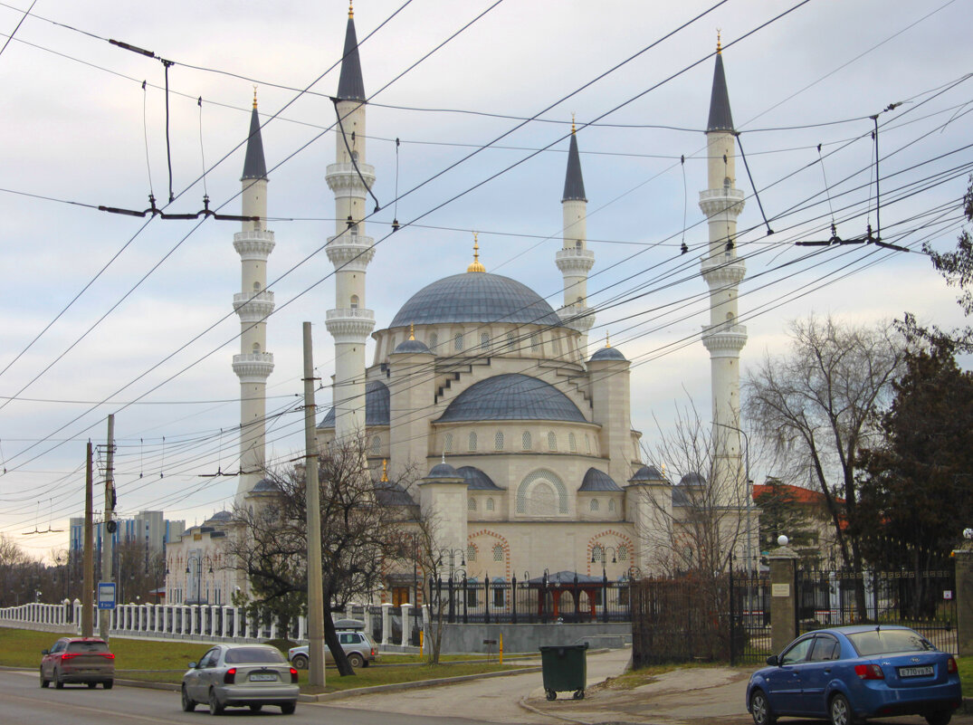
[[[364,444],[375,479],[390,482],[396,503],[435,515],[438,543],[444,551],[459,552],[472,579],[488,574],[509,581],[545,569],[600,576],[604,567],[618,580],[654,570],[658,552],[650,529],[659,524],[653,509],[662,501],[678,520],[687,500],[684,489],[700,486],[702,479],[689,474],[670,482],[661,466],[642,460],[641,433],[631,423],[629,360],[607,341],[588,354],[595,312],[587,304],[587,280],[595,252],[587,241],[574,128],[560,199],[563,243],[554,259],[563,276],[561,307],[553,308],[517,279],[488,272],[474,241],[465,270],[442,270],[446,276],[430,278],[387,328],[375,330],[366,278],[377,250],[365,219],[376,169],[367,162],[369,106],[352,12],[336,96],[342,122],[336,160],[326,174],[337,220],[326,246],[335,267],[336,302],[326,312],[335,375],[333,407],[316,431],[321,450]],[[735,184],[735,132],[719,53],[706,136],[707,188],[700,206],[708,218],[709,245],[701,274],[711,311],[702,340],[711,362],[713,439],[721,441],[716,466],[739,487],[744,476],[735,431],[746,330],[736,318],[745,266],[733,239],[744,195]],[[241,181],[242,213],[258,221],[244,222],[234,235],[242,263],[241,290],[234,295],[241,323],[234,372],[245,472],[238,499],[268,486],[261,471],[264,390],[273,369],[266,349],[273,293],[264,287],[274,239],[264,221],[268,178],[256,100]],[[433,267],[430,261],[427,269]],[[369,336],[375,349],[371,364]],[[203,527],[218,531],[219,525]],[[393,603],[421,600],[408,583],[388,584]]]

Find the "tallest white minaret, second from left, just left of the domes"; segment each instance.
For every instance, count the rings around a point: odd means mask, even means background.
[[[375,168],[365,163],[365,85],[350,7],[337,98],[336,163],[328,164],[326,176],[335,193],[337,221],[326,250],[335,265],[336,302],[327,312],[327,327],[335,339],[332,399],[335,441],[341,445],[353,443],[365,430],[365,342],[375,327],[375,312],[365,308],[365,272],[375,255],[374,240],[365,236],[362,221]]]

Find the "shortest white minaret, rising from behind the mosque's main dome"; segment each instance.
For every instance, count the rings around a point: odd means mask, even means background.
[[[585,180],[581,176],[578,137],[573,120],[571,146],[567,150],[567,172],[564,174],[564,195],[560,205],[564,246],[558,251],[555,261],[564,276],[564,307],[558,310],[558,314],[565,325],[581,333],[579,344],[584,359],[587,357],[588,331],[595,324],[595,315],[585,314],[588,309],[588,272],[595,266],[595,253],[588,249],[588,199],[585,198]]]

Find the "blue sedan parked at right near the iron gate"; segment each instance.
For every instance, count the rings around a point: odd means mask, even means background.
[[[853,725],[909,714],[947,725],[962,705],[954,657],[907,627],[818,630],[798,637],[767,664],[746,687],[756,725],[774,725],[780,715]]]

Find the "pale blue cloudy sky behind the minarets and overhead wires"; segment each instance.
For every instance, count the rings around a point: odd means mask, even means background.
[[[589,352],[607,333],[631,360],[632,425],[648,448],[681,408],[708,415],[698,199],[718,30],[749,166],[738,156],[744,374],[785,353],[788,322],[811,313],[961,324],[955,290],[920,247],[955,244],[973,167],[970,6],[359,0],[376,329],[420,288],[465,271],[474,232],[487,272],[560,306],[573,115],[595,252]],[[66,546],[57,529],[83,515],[85,447],[104,444],[111,413],[119,516],[162,509],[193,525],[232,502],[235,479],[212,474],[238,467],[239,225],[146,223],[97,206],[144,209],[150,193],[162,205],[171,185],[168,211],[196,212],[208,195],[239,213],[255,85],[276,237],[270,461],[286,465],[304,445],[304,321],[325,382],[318,417],[330,407],[325,169],[347,5],[37,0],[25,17],[28,7],[0,3],[0,533],[46,557]],[[159,58],[172,61],[167,93]],[[878,211],[883,238],[909,252],[793,243],[829,237],[832,219],[840,236],[860,236]]]

